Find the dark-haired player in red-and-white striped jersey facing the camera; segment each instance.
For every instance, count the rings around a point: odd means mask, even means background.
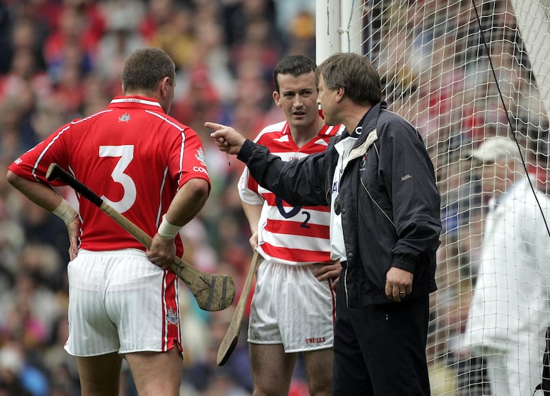
[[[263,128],[255,142],[289,161],[322,152],[340,125],[319,115],[314,60],[286,56],[274,70],[273,99],[286,120]],[[260,187],[245,168],[239,181],[250,244],[261,256],[250,307],[248,342],[254,395],[287,395],[298,353],[309,394],[330,395],[334,279],[328,206],[293,207]]]

